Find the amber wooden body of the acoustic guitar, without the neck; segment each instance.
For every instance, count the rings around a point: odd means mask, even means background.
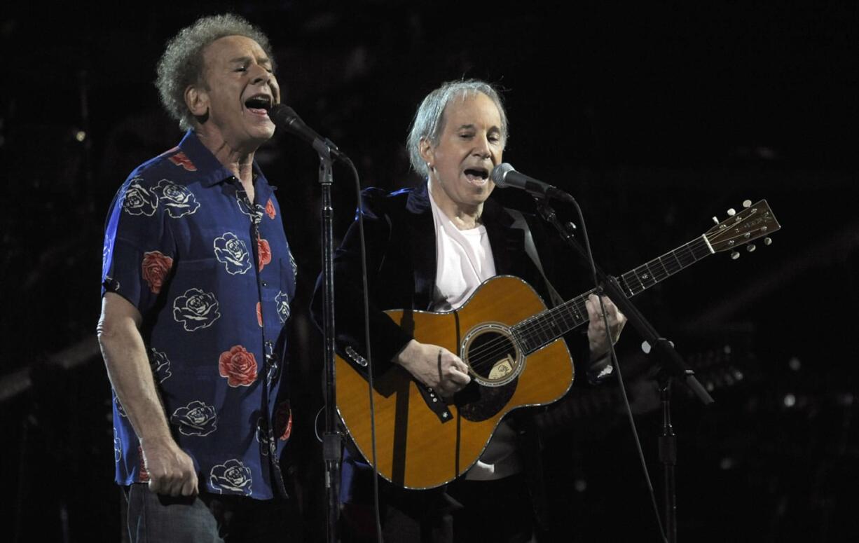
[[[470,366],[472,383],[447,404],[399,366],[374,375],[382,477],[405,488],[444,485],[472,467],[506,413],[551,403],[570,389],[573,361],[563,339],[525,356],[509,332],[509,326],[544,310],[530,285],[497,276],[455,311],[387,311],[417,341],[457,353]],[[340,418],[373,463],[367,379],[341,357],[335,371]]]

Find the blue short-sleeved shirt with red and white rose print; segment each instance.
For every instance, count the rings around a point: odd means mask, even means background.
[[[272,187],[253,171],[251,203],[188,131],[131,172],[107,217],[102,296],[143,315],[155,383],[200,490],[268,499],[283,493],[277,459],[292,426],[281,381],[295,260]],[[115,394],[113,432],[116,481],[147,481]]]

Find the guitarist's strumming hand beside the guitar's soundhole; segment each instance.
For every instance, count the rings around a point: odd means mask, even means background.
[[[465,387],[472,378],[468,366],[451,351],[438,345],[423,344],[412,339],[394,363],[408,370],[417,381],[421,381],[443,398],[449,398]]]

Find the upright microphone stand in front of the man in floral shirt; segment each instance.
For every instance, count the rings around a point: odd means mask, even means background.
[[[340,451],[343,436],[337,424],[337,388],[334,381],[334,235],[332,205],[332,148],[328,140],[317,139],[313,144],[320,156],[319,182],[322,187],[322,274],[323,290],[323,336],[325,342],[325,410],[326,427],[322,435],[322,459],[325,461],[325,486],[327,494],[326,527],[327,541],[338,540]]]

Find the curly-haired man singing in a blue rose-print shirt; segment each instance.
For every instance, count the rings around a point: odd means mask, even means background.
[[[98,333],[131,541],[300,534],[279,459],[295,260],[254,155],[280,101],[269,41],[236,15],[168,42],[156,86],[186,135],[108,213]]]

